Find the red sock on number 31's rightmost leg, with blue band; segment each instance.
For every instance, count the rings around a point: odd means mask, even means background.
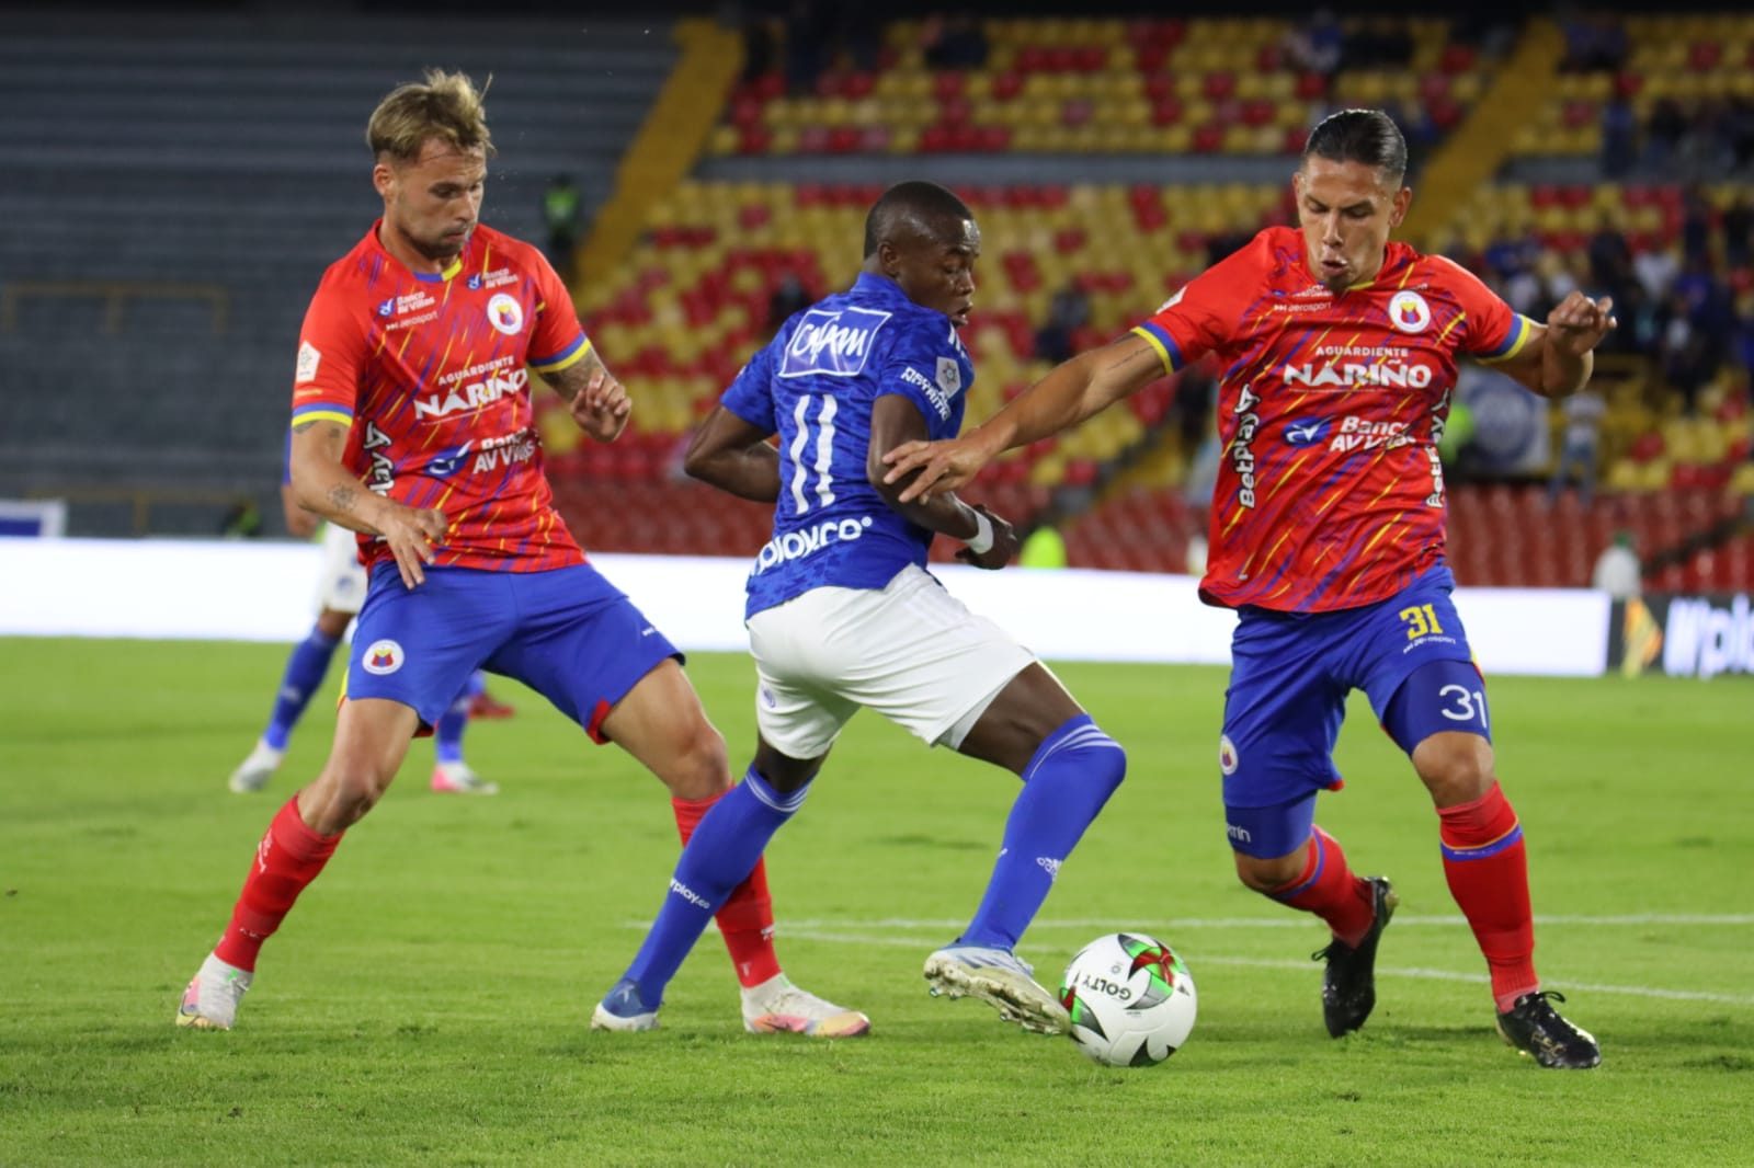
[[[1472,803],[1440,807],[1437,814],[1444,877],[1486,954],[1493,998],[1505,1014],[1517,998],[1540,989],[1522,828],[1496,782]]]

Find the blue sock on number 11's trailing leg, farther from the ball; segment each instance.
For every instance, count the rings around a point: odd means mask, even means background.
[[[751,766],[744,780],[702,817],[670,877],[670,894],[624,975],[638,987],[647,1010],[663,1003],[665,987],[682,968],[707,921],[756,866],[768,840],[796,814],[809,789],[810,784],[805,784],[781,794]]]

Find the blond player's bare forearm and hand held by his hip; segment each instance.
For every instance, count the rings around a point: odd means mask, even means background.
[[[300,507],[330,523],[382,538],[396,558],[402,584],[424,584],[426,565],[437,558],[433,545],[446,533],[446,514],[405,507],[367,491],[342,461],[346,451],[347,426],[333,421],[295,424],[289,459],[293,496]]]

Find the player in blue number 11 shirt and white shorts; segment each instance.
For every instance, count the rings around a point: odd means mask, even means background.
[[[956,330],[968,323],[979,254],[980,231],[956,195],[933,182],[889,188],[865,221],[852,288],[786,321],[689,445],[691,475],[774,503],[745,609],[759,740],[742,784],[682,851],[593,1028],[658,1024],[665,986],[707,919],[803,803],[861,707],[1023,779],[986,896],[963,935],[926,959],[926,979],[1026,1029],[1066,1026],[1014,949],[1126,756],[1040,661],[926,572],[940,533],[966,544],[961,559],[1005,566],[1017,549],[1010,524],[954,493],[902,503],[902,486],[882,482],[886,451],[961,426],[973,365]]]

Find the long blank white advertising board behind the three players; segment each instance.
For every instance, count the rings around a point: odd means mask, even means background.
[[[295,642],[316,610],[321,559],[317,547],[291,542],[0,538],[0,637]],[[747,559],[591,559],[682,649],[747,649]],[[1051,661],[1230,663],[1237,617],[1200,603],[1193,577],[963,565],[933,572]],[[1607,672],[1607,593],[1468,588],[1456,600],[1487,673]]]

